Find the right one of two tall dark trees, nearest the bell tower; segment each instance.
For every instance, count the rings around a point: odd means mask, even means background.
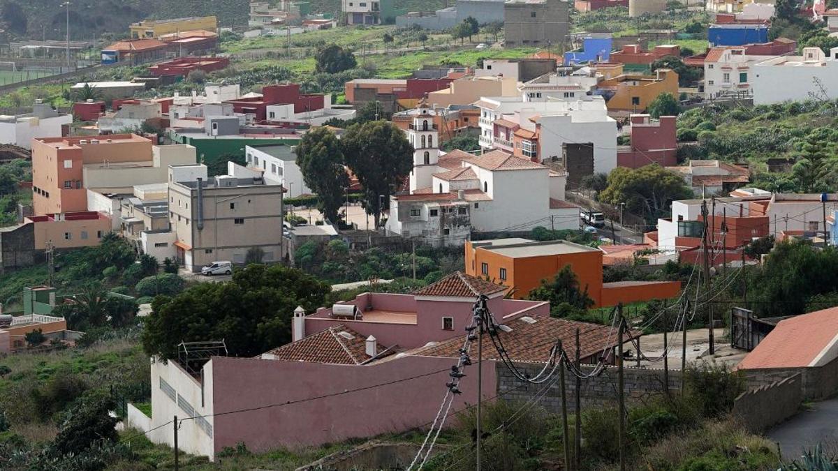
[[[364,189],[362,204],[380,225],[382,199],[400,185],[413,166],[413,147],[391,122],[355,124],[341,139],[346,163]]]

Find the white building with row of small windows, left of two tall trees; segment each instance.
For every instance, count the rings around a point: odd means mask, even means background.
[[[312,190],[303,180],[303,172],[297,166],[297,146],[266,145],[247,146],[245,158],[248,168],[262,171],[266,184],[281,184],[288,198],[311,194]]]

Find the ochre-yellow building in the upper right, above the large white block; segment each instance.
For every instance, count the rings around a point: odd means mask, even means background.
[[[599,82],[597,88],[606,91],[608,111],[642,113],[661,93],[670,93],[678,99],[678,74],[674,70],[658,69],[654,75],[618,75]]]

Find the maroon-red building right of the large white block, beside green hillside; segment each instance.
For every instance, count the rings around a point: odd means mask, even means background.
[[[660,116],[657,122],[649,115],[632,115],[630,119],[631,143],[618,148],[618,167],[640,168],[650,163],[671,167],[677,164],[675,116]]]

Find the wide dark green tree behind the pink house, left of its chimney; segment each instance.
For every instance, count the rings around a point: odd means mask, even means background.
[[[154,298],[142,346],[148,355],[169,360],[177,358],[182,341],[224,339],[230,355],[259,355],[287,344],[294,309],[322,306],[329,291],[328,284],[296,268],[249,265],[232,282]]]

